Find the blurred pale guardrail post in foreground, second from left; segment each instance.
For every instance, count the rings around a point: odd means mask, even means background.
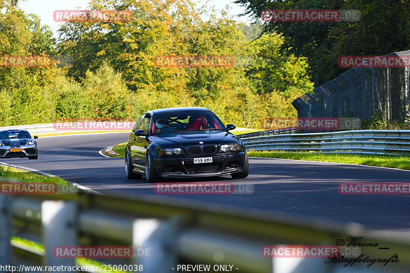
[[[75,202],[43,201],[42,241],[46,248],[45,266],[75,266],[75,258],[55,258],[54,247],[77,245],[76,215],[77,204]]]

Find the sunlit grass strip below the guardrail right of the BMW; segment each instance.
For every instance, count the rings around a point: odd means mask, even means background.
[[[281,151],[248,151],[248,156],[265,158],[298,159],[310,161],[325,161],[350,163],[367,166],[390,167],[410,170],[410,156],[400,155],[354,155],[354,154],[324,154],[324,153],[290,153]]]

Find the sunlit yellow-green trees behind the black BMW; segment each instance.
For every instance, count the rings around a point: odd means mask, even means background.
[[[296,116],[290,102],[313,89],[305,58],[281,51],[285,40],[262,35],[189,0],[97,0],[90,9],[132,10],[130,22],[68,22],[58,43],[34,15],[12,2],[2,14],[3,54],[62,54],[69,68],[2,68],[3,125],[56,119],[135,119],[150,109],[201,106],[225,123],[260,128],[263,117]],[[202,16],[202,15],[207,16]],[[204,20],[202,18],[206,17]],[[16,26],[12,27],[12,24]],[[17,34],[11,31],[17,29]],[[5,41],[5,42],[3,42]],[[232,55],[233,67],[166,68],[158,55]]]

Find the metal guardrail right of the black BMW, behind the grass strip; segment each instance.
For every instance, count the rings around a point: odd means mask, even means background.
[[[410,153],[410,130],[354,130],[242,138],[247,150],[322,153]]]

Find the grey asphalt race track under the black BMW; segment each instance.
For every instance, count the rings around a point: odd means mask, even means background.
[[[409,182],[410,172],[346,164],[250,158],[250,175],[198,181],[251,184],[253,194],[158,195],[146,180],[128,180],[123,158],[106,158],[98,151],[126,142],[128,133],[68,135],[38,139],[37,160],[3,159],[60,176],[106,195],[145,195],[257,209],[260,214],[289,213],[335,222],[355,222],[367,229],[410,231],[410,196],[340,195],[341,182]],[[175,180],[181,181],[181,180]],[[185,180],[187,181],[187,180]],[[192,180],[191,180],[192,181]]]

